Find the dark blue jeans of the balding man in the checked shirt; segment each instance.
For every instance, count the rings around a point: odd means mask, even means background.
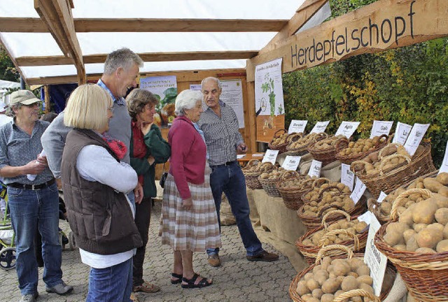
[[[238,162],[228,166],[211,166],[210,187],[215,200],[216,212],[218,213],[218,224],[221,230],[219,211],[221,209],[221,196],[223,192],[230,203],[232,213],[237,220],[239,236],[243,240],[248,256],[260,254],[263,249],[255,231],[253,231],[251,219],[249,218],[249,203],[246,194],[246,179]],[[218,254],[219,248],[208,249],[207,254]]]

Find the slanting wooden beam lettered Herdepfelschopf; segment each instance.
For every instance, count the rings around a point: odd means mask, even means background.
[[[279,57],[282,72],[288,73],[448,36],[447,11],[448,1],[379,0],[290,36],[274,50],[249,59],[247,80],[254,80],[256,65]]]

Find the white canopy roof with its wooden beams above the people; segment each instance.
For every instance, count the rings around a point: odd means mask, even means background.
[[[327,2],[0,1],[1,43],[29,85],[100,74],[106,55],[123,47],[144,59],[142,73],[244,69],[276,34],[294,34]]]

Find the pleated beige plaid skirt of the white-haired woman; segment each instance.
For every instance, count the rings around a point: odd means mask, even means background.
[[[162,219],[160,229],[162,244],[171,245],[173,250],[204,252],[208,248],[221,246],[216,206],[210,188],[211,169],[205,167],[204,183],[188,183],[193,208],[184,210],[182,198],[171,174],[168,174],[163,190]]]

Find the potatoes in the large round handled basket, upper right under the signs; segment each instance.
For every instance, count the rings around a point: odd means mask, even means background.
[[[388,145],[381,152],[372,152],[361,161],[354,161],[351,171],[357,175],[377,175],[380,171],[386,173],[402,166],[409,158],[402,145]]]

